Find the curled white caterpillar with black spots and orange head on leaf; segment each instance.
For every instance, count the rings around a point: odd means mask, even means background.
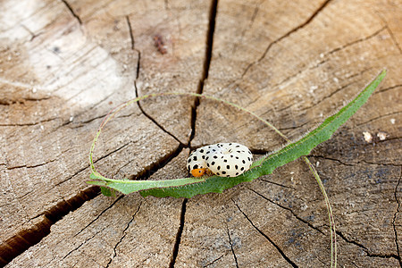
[[[217,143],[200,147],[188,156],[187,169],[194,177],[213,173],[237,177],[253,163],[250,150],[239,143]]]

